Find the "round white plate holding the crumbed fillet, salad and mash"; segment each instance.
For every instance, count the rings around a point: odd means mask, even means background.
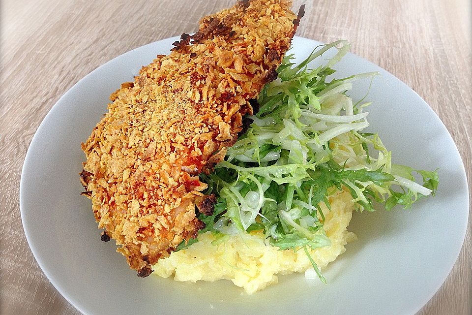
[[[109,95],[177,37],[132,50],[98,67],[62,96],[29,146],[20,185],[21,215],[31,251],[51,283],[84,314],[413,314],[439,289],[461,250],[469,200],[464,165],[441,120],[423,99],[382,68],[353,54],[336,76],[380,71],[368,100],[370,130],[396,163],[439,170],[436,197],[411,210],[355,214],[359,240],[324,270],[327,284],[303,274],[251,296],[228,281],[178,283],[138,278],[115,242],[100,241],[89,199],[80,195],[85,141],[107,111]],[[295,37],[303,58],[319,42]],[[433,79],[433,78],[432,78]],[[354,83],[353,97],[370,80]]]

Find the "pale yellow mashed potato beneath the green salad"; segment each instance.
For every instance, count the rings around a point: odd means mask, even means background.
[[[355,235],[346,230],[352,218],[354,203],[351,194],[337,193],[329,198],[331,210],[322,206],[325,216],[324,230],[331,246],[310,250],[320,269],[346,251],[345,245],[355,240]],[[199,242],[188,249],[173,252],[155,264],[154,275],[170,277],[176,281],[231,280],[243,287],[248,294],[277,283],[277,274],[304,272],[313,269],[303,250],[279,251],[266,245],[264,234],[238,234],[219,245],[211,245],[211,232],[200,234]]]

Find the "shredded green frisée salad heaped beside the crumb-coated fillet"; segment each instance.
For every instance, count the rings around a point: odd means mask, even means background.
[[[334,57],[310,68],[329,49],[336,50]],[[303,250],[326,283],[308,248],[330,245],[320,208],[325,203],[329,209],[328,196],[349,191],[362,212],[374,211],[376,203],[386,210],[398,204],[407,209],[435,194],[436,171],[393,164],[380,137],[363,132],[370,103],[353,103],[348,93],[355,80],[378,73],[334,79],[332,67],[349,49],[347,41],[338,40],[316,47],[297,65],[293,55],[284,58],[278,78],[260,93],[247,131],[212,174],[200,175],[208,184],[205,193],[217,198],[211,216],[198,216],[206,223],[200,233],[212,231],[218,244],[237,233],[263,230],[267,244]],[[195,242],[182,242],[177,250]]]

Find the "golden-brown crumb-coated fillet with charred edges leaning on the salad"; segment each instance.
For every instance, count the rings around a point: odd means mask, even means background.
[[[237,139],[250,99],[277,77],[299,19],[290,0],[242,0],[204,17],[110,97],[109,112],[82,144],[81,181],[102,239],[116,240],[138,276],[196,237],[214,196],[210,172]]]

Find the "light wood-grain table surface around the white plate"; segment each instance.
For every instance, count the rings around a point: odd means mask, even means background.
[[[304,0],[297,35],[345,38],[406,82],[442,119],[472,175],[468,0]],[[233,0],[1,1],[0,312],[80,314],[49,283],[21,225],[19,182],[31,138],[61,95],[133,48],[196,31]],[[299,6],[302,1],[295,0]],[[471,226],[451,274],[419,314],[472,314]]]

